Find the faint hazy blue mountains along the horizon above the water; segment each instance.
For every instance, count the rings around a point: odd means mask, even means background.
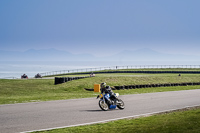
[[[117,54],[95,56],[92,53],[72,54],[65,50],[29,49],[24,52],[0,50],[0,61],[196,61],[200,56],[184,54],[166,54],[152,49],[123,50]],[[170,63],[171,64],[171,63]]]

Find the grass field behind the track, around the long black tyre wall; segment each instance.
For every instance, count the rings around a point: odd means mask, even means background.
[[[177,74],[97,74],[93,78],[74,80],[59,85],[54,85],[54,79],[0,79],[0,104],[96,97],[98,93],[86,91],[84,88],[93,88],[94,84],[102,82],[110,86],[200,82],[200,75],[184,74],[179,77]],[[120,95],[125,95],[199,88],[200,86],[177,86],[116,91]]]

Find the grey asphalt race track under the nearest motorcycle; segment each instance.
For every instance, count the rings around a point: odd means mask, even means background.
[[[124,110],[102,111],[96,98],[0,105],[0,132],[61,128],[200,106],[200,89],[124,95]]]

